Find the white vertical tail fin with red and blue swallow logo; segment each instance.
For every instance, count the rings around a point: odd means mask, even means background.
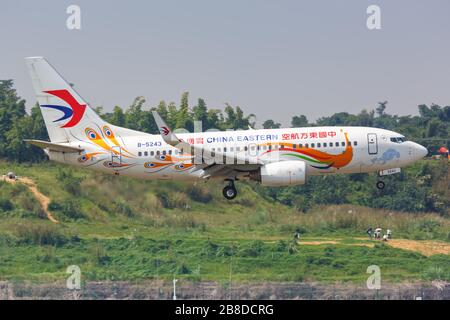
[[[45,58],[25,60],[51,142],[70,142],[86,127],[105,124]]]

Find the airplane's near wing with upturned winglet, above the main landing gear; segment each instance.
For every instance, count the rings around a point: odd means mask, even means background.
[[[202,176],[205,178],[213,175],[224,175],[227,171],[248,172],[256,170],[263,165],[256,157],[251,158],[236,153],[212,151],[204,145],[199,146],[182,141],[172,132],[158,112],[152,111],[152,113],[164,142],[178,148],[182,152],[193,154],[196,168],[194,171],[203,170]],[[217,161],[218,159],[220,161]]]

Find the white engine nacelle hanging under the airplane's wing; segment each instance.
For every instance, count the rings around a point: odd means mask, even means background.
[[[304,184],[306,164],[304,161],[279,161],[268,163],[250,174],[250,179],[259,181],[263,186],[281,187]]]

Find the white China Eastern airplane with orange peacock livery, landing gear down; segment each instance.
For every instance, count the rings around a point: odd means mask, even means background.
[[[370,127],[307,127],[179,133],[153,111],[160,134],[102,120],[43,57],[26,58],[50,141],[26,140],[50,160],[104,173],[149,180],[225,182],[223,196],[237,196],[235,181],[263,186],[304,184],[329,174],[400,172],[427,149],[402,134]],[[250,130],[251,129],[251,130]],[[385,183],[379,180],[377,188]]]

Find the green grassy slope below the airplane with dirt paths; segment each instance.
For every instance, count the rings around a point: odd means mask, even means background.
[[[50,222],[26,185],[0,181],[0,280],[56,281],[78,265],[83,279],[365,282],[450,280],[450,255],[366,239],[368,226],[394,238],[447,246],[450,219],[339,205],[302,213],[260,197],[252,184],[227,202],[221,186],[145,182],[70,169],[0,163],[51,199]],[[300,229],[300,244],[293,234]],[[394,244],[394,242],[393,242]],[[446,248],[446,247],[445,247]]]

